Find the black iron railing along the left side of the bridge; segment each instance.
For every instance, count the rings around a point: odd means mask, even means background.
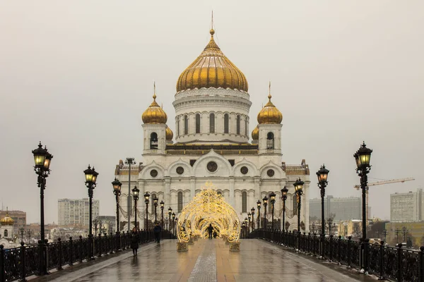
[[[139,231],[139,244],[154,240],[152,230]],[[163,231],[162,238],[175,238],[169,231]],[[0,282],[20,280],[39,274],[40,257],[43,257],[47,269],[62,269],[64,265],[86,262],[90,259],[89,238],[72,238],[62,241],[60,238],[53,243],[24,245],[13,249],[4,249],[0,245]],[[125,250],[131,245],[130,233],[98,235],[93,238],[95,257],[105,257],[114,252]],[[43,252],[41,251],[43,250]],[[43,254],[43,255],[41,255]]]

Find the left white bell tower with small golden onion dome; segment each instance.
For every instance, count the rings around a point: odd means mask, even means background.
[[[173,133],[166,125],[167,115],[156,102],[155,92],[152,104],[141,116],[144,136],[143,154],[165,154],[166,145],[172,143]]]

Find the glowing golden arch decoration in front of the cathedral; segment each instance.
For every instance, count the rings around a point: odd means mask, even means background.
[[[216,192],[216,187],[211,182],[202,186],[201,192],[179,214],[179,243],[189,243],[190,238],[195,235],[207,238],[209,224],[212,224],[218,237],[225,236],[229,243],[240,242],[240,219],[223,196]]]

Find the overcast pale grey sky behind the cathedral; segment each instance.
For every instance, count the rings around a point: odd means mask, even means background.
[[[40,221],[31,150],[54,154],[46,222],[57,199],[87,197],[83,170],[100,173],[100,214],[114,214],[119,159],[142,161],[141,114],[158,102],[174,130],[179,74],[216,41],[245,73],[256,125],[272,81],[283,113],[283,161],[330,170],[327,195],[358,196],[353,153],[365,140],[372,214],[389,194],[423,188],[424,1],[0,1],[1,200]]]

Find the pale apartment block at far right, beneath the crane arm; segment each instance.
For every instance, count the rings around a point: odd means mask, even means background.
[[[416,192],[395,192],[390,194],[390,221],[422,221],[424,220],[423,189]]]

